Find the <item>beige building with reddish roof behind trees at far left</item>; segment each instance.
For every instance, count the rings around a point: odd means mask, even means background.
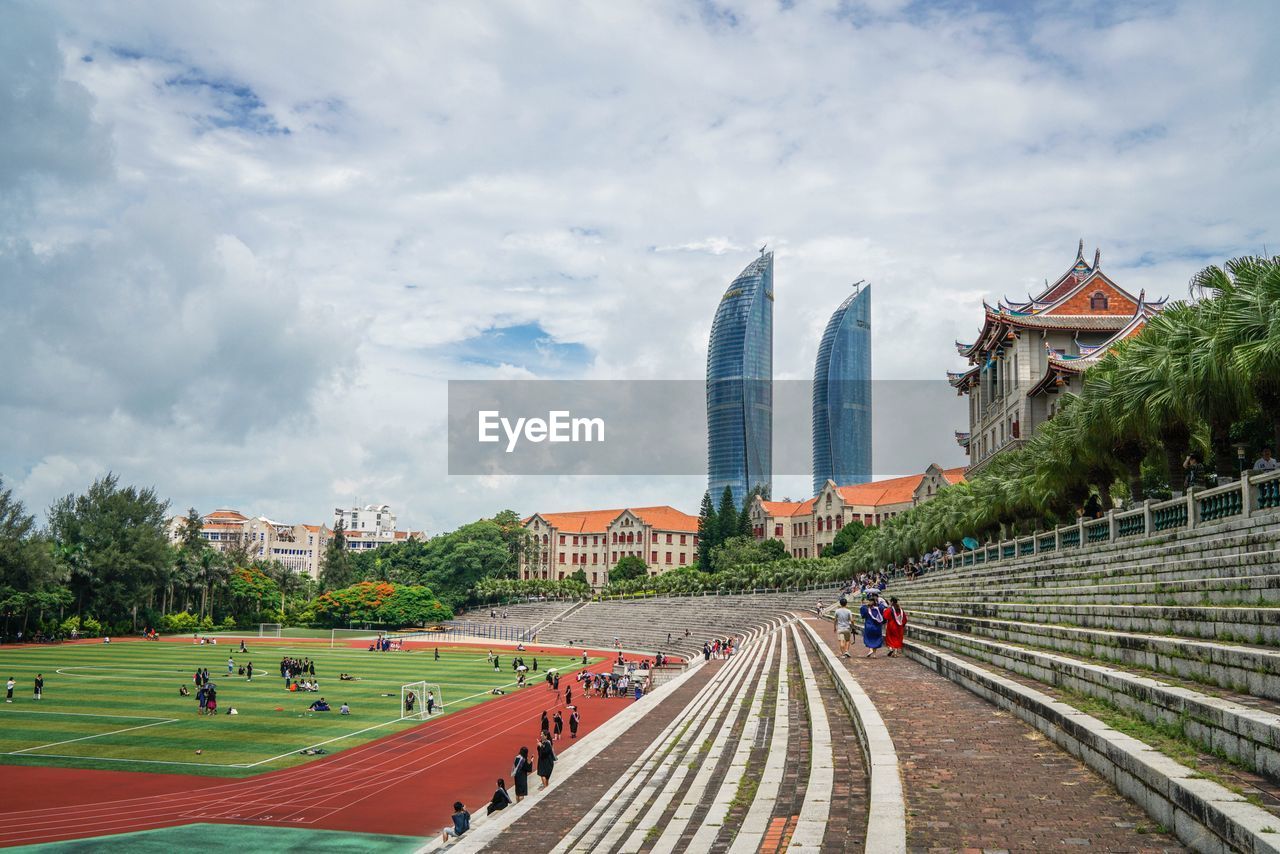
[[[293,572],[320,576],[320,560],[333,536],[324,525],[289,525],[266,516],[250,517],[236,510],[215,510],[201,517],[200,535],[219,552],[242,548],[250,558],[279,561]],[[186,517],[169,520],[169,539],[182,539]]]

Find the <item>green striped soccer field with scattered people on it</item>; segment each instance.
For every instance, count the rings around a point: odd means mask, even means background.
[[[0,704],[0,763],[246,777],[310,762],[316,757],[301,754],[307,748],[335,753],[420,723],[399,720],[406,682],[439,684],[445,714],[498,699],[494,688],[515,690],[509,648],[494,649],[502,659],[494,672],[477,648],[442,647],[436,662],[431,649],[374,653],[289,639],[246,645],[247,656],[236,652],[238,641],[0,648],[0,682],[17,681],[14,702]],[[532,665],[534,656],[522,654]],[[227,675],[228,656],[237,671],[253,662],[252,682]],[[315,662],[319,693],[284,690],[284,656]],[[571,673],[582,659],[538,656],[538,666],[529,677],[535,686],[549,667]],[[197,714],[197,667],[207,668],[218,688],[218,716]],[[37,672],[45,677],[38,703]],[[358,680],[339,681],[343,672]],[[179,685],[191,695],[180,697]],[[307,711],[320,697],[333,712]],[[342,703],[351,705],[349,716],[338,714]],[[228,716],[232,707],[238,713]]]

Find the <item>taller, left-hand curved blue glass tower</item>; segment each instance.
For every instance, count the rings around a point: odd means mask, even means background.
[[[739,507],[773,478],[773,252],[746,265],[721,297],[707,348],[707,472]]]

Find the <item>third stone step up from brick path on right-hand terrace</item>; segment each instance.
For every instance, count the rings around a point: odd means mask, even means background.
[[[1125,667],[1167,673],[1240,694],[1280,700],[1280,650],[1222,641],[970,617],[951,611],[918,611],[908,603],[918,626],[972,634],[1050,652],[1083,656]]]

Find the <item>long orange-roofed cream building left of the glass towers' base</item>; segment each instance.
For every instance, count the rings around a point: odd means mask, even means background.
[[[698,517],[666,504],[534,513],[524,521],[531,548],[521,556],[522,579],[567,579],[582,570],[593,588],[609,568],[639,557],[650,575],[698,562]]]

